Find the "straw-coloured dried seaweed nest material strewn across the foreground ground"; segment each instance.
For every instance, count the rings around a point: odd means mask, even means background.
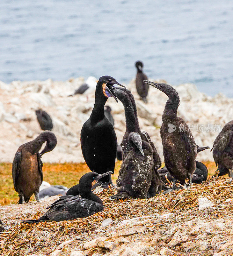
[[[116,190],[109,189],[98,193],[103,200],[104,211],[98,212],[87,218],[61,222],[40,222],[38,224],[18,224],[10,230],[2,232],[1,255],[19,255],[21,250],[35,246],[37,239],[35,234],[52,233],[52,237],[44,240],[44,244],[38,246],[46,247],[49,244],[56,244],[61,236],[68,234],[78,234],[83,232],[93,232],[102,228],[101,222],[106,218],[112,218],[114,222],[151,215],[155,212],[164,214],[173,211],[197,210],[198,198],[206,196],[215,205],[224,204],[226,199],[231,199],[233,195],[233,179],[224,177],[213,177],[203,182],[201,185],[193,184],[192,188],[173,191],[171,194],[160,194],[150,199],[127,199],[125,201],[111,201],[109,196],[116,194]],[[42,215],[38,212],[34,215],[37,219]],[[50,241],[48,241],[50,239]],[[16,242],[17,241],[17,242]]]

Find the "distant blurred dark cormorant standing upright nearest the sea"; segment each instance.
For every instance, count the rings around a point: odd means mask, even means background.
[[[142,72],[143,64],[141,61],[137,61],[135,63],[135,67],[137,68],[137,75],[136,75],[136,89],[137,93],[139,94],[141,100],[147,103],[147,95],[149,90],[149,85],[145,84],[143,80],[147,80],[147,76]]]

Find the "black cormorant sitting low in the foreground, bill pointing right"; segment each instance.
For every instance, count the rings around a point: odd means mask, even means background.
[[[39,220],[22,220],[21,223],[38,223],[41,221],[62,221],[85,218],[104,210],[102,200],[91,192],[91,183],[94,180],[111,174],[106,172],[99,175],[96,172],[85,173],[79,180],[80,196],[61,196],[48,206],[49,209]]]

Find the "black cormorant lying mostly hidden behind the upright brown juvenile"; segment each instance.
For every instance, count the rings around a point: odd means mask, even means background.
[[[197,153],[199,153],[207,148],[209,148],[209,147],[201,147],[201,148],[197,147]],[[171,176],[170,172],[168,172],[166,166],[159,169],[158,172],[159,172],[161,180],[164,183],[167,183],[167,179],[170,182],[173,182],[173,177]],[[167,175],[167,179],[166,179],[166,175]],[[207,180],[207,176],[208,176],[208,169],[207,169],[206,165],[196,160],[196,169],[195,169],[195,172],[193,173],[192,182],[196,183],[196,184],[200,184],[203,181]]]

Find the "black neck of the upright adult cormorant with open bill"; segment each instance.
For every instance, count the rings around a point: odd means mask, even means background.
[[[104,105],[108,98],[103,94],[102,84],[96,85],[95,105],[91,112],[91,122],[97,123],[104,119]]]

